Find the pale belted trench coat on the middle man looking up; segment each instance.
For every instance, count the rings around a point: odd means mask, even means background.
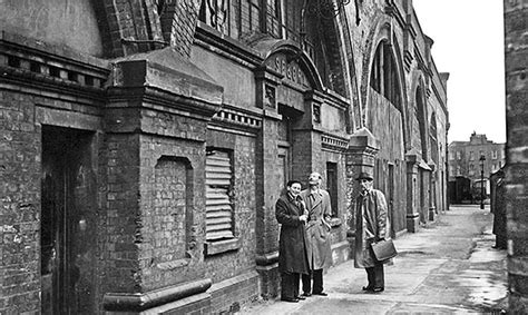
[[[301,191],[301,197],[306,205],[309,220],[306,223],[306,252],[310,269],[317,270],[332,265],[332,250],[330,248],[330,225],[325,219],[332,217],[330,195],[326,190],[310,189]]]

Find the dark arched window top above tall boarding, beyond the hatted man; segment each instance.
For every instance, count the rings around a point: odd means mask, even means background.
[[[397,63],[388,41],[382,41],[375,50],[372,62],[371,87],[384,96],[397,108],[401,109],[400,82],[398,80]]]

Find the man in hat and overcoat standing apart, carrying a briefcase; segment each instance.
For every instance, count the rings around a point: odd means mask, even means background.
[[[355,259],[354,267],[365,268],[369,284],[366,292],[382,292],[385,288],[383,263],[372,252],[372,243],[389,238],[389,222],[385,196],[373,189],[373,178],[361,173],[356,178],[361,193],[355,199]]]

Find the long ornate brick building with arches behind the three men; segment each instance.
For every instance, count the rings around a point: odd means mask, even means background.
[[[4,3],[0,312],[275,296],[274,204],[311,171],[334,264],[353,250],[360,171],[395,236],[446,209],[449,76],[412,1],[325,3]]]

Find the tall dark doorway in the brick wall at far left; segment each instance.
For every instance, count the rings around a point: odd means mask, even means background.
[[[90,132],[42,127],[42,314],[96,312],[92,138]]]

